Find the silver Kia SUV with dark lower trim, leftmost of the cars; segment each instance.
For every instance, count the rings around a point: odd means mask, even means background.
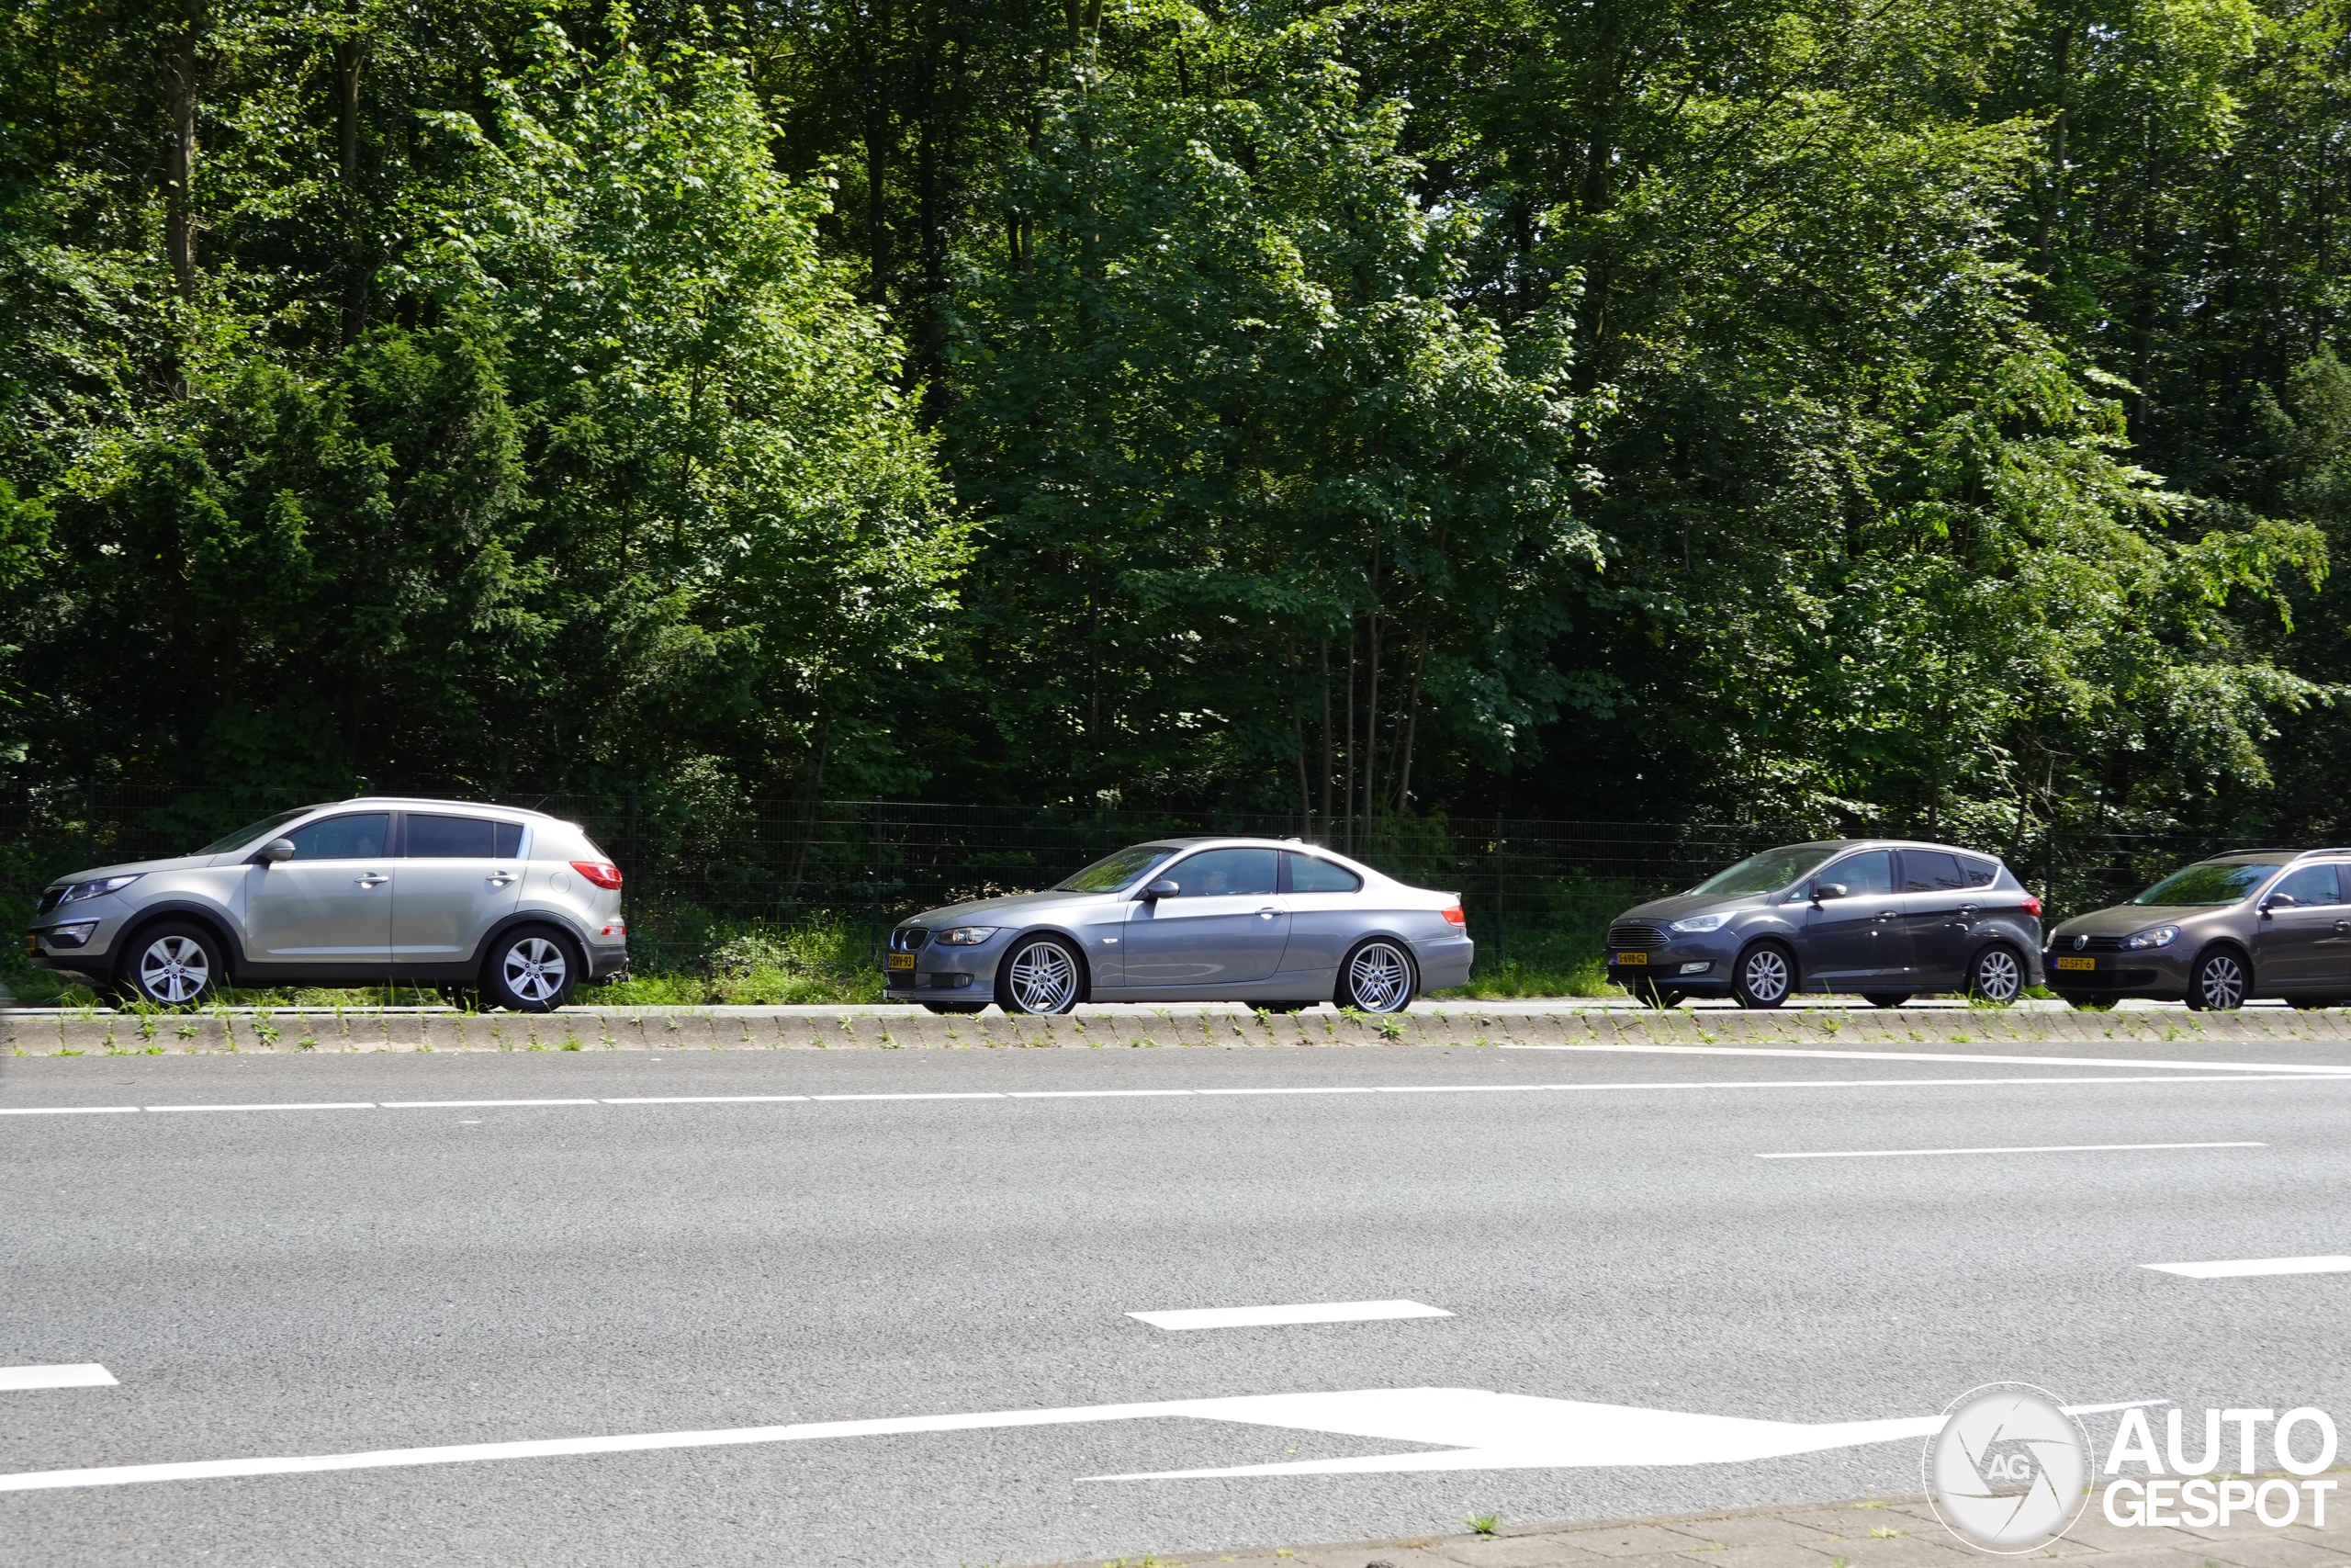
[[[26,952],[158,1006],[221,985],[397,983],[545,1013],[628,969],[628,924],[621,867],[576,823],[362,797],[73,872],[42,891]]]

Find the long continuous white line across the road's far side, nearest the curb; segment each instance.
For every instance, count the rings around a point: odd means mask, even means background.
[[[1523,1046],[1554,1051],[1559,1046]],[[1580,1048],[1580,1046],[1578,1046]],[[1944,1060],[1944,1058],[1928,1058]],[[1961,1058],[1970,1060],[1970,1058]],[[1483,1093],[1648,1093],[1648,1091],[1719,1091],[1719,1088],[2012,1088],[2020,1084],[2351,1084],[2351,1072],[2158,1072],[2158,1074],[2034,1074],[1970,1079],[1679,1079],[1629,1084],[1314,1084],[1298,1088],[1016,1088],[976,1093],[875,1093],[875,1095],[647,1095],[609,1100],[341,1100],[322,1105],[249,1103],[249,1105],[12,1105],[0,1117],[87,1117],[115,1112],[186,1112],[186,1110],[463,1110],[477,1105],[745,1105],[795,1100],[1128,1100],[1128,1098],[1237,1098],[1237,1095],[1483,1095]]]

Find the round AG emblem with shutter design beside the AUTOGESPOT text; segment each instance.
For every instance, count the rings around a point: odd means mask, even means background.
[[[1951,1401],[1925,1441],[1925,1493],[1951,1535],[1982,1552],[2038,1552],[2090,1500],[2090,1439],[2029,1382],[1987,1382]]]

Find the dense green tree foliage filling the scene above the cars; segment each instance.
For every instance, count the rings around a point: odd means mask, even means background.
[[[0,776],[2325,832],[2342,0],[19,0]]]

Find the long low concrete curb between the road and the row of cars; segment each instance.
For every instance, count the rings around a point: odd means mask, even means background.
[[[350,1051],[969,1051],[1161,1046],[1554,1046],[1756,1044],[1817,1048],[2351,1041],[2351,1011],[2050,1013],[2001,1009],[1404,1013],[1178,1013],[940,1018],[919,1011],[790,1013],[564,1009],[562,1013],[0,1013],[5,1056],[207,1056]]]

